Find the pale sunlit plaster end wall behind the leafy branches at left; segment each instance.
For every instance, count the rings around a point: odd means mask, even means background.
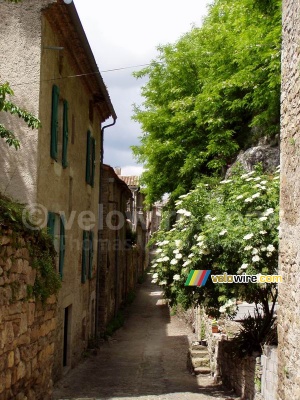
[[[9,82],[15,94],[11,100],[35,116],[39,116],[40,9],[52,2],[0,2],[0,82]],[[28,128],[17,116],[3,112],[0,123],[9,127],[21,141],[21,148],[16,151],[0,140],[0,191],[22,202],[35,203],[38,130]]]

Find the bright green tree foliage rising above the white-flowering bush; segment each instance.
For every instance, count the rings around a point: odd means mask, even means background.
[[[148,78],[133,116],[148,203],[176,198],[279,133],[280,43],[279,0],[215,0],[201,28],[135,73]]]

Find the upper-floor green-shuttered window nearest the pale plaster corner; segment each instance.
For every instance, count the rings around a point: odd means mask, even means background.
[[[53,85],[50,156],[61,162],[63,168],[68,166],[68,109],[68,102],[60,97],[58,86]]]

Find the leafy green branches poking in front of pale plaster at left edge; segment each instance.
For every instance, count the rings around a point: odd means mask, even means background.
[[[20,3],[21,0],[6,0],[10,3]],[[17,115],[22,118],[29,128],[37,129],[41,126],[40,121],[30,112],[18,107],[16,104],[7,100],[7,96],[13,96],[14,92],[9,86],[9,83],[0,84],[0,112],[8,112],[12,115]],[[0,124],[0,137],[5,140],[9,146],[14,146],[17,150],[20,147],[20,140],[15,136],[15,133]]]

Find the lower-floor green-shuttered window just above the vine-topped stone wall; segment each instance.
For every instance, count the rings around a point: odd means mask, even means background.
[[[48,233],[53,238],[54,248],[58,255],[58,272],[63,278],[64,261],[65,261],[65,219],[63,215],[55,214],[51,211],[48,212]]]

